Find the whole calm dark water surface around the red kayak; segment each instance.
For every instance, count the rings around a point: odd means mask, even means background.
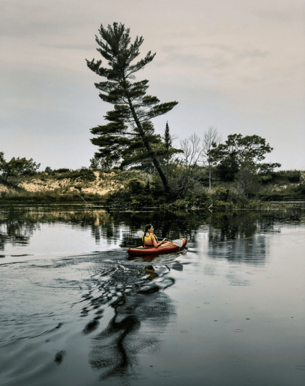
[[[136,232],[188,239],[130,259]],[[0,385],[303,386],[305,205],[0,207]]]

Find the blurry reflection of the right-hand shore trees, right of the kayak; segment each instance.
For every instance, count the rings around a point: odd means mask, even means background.
[[[198,228],[196,240],[208,240],[202,248],[211,259],[262,265],[268,256],[268,239],[263,235],[280,233],[282,221],[304,223],[301,208],[275,212],[230,212],[209,215],[206,224]]]

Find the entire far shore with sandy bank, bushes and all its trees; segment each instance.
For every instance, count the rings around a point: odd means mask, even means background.
[[[230,134],[223,141],[214,127],[180,140],[156,134],[152,119],[178,102],[160,103],[147,95],[148,80],[135,73],[155,57],[149,51],[134,63],[143,38],[130,44],[129,29],[113,23],[99,30],[102,60],[87,66],[104,81],[95,83],[103,102],[113,105],[106,125],[91,129],[98,147],[90,166],[80,170],[46,167],[33,159],[5,161],[0,152],[0,198],[24,203],[83,202],[111,207],[168,209],[257,208],[270,201],[305,199],[305,172],[276,171],[280,163],[265,162],[273,148],[259,135]]]

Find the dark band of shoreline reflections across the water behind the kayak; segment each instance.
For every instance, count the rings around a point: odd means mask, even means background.
[[[61,232],[69,229],[90,232],[96,246],[107,247],[114,244],[121,248],[141,244],[135,234],[146,223],[153,223],[157,236],[168,239],[186,237],[190,242],[209,240],[209,253],[213,258],[226,257],[229,260],[262,261],[266,255],[263,241],[239,242],[224,250],[225,241],[251,239],[263,233],[280,232],[282,221],[297,225],[304,223],[302,207],[281,208],[274,211],[232,211],[210,212],[108,212],[103,209],[83,210],[81,206],[61,205],[44,207],[0,208],[0,256],[5,257],[5,245],[26,246],[34,235],[41,233],[42,225],[56,227],[66,225]],[[63,241],[64,242],[64,241]],[[52,246],[45,243],[46,248]],[[59,240],[58,240],[59,243]],[[57,243],[57,244],[58,244]],[[70,243],[71,244],[71,243]],[[66,246],[65,248],[66,249]],[[74,250],[71,250],[71,253]],[[82,250],[79,253],[83,252]],[[84,252],[87,252],[84,250]],[[22,251],[18,255],[23,255]],[[25,255],[32,255],[30,248]]]

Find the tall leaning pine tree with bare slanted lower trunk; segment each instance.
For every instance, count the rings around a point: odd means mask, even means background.
[[[168,179],[161,167],[157,154],[152,146],[155,135],[152,134],[150,120],[166,114],[177,105],[178,102],[159,103],[157,97],[146,95],[148,80],[134,81],[134,73],[150,63],[155,54],[151,51],[144,59],[132,64],[140,54],[139,47],[143,43],[142,37],[137,37],[134,43],[130,43],[129,28],[124,24],[113,23],[105,29],[102,25],[99,33],[102,39],[96,37],[100,46],[97,51],[108,61],[108,67],[101,67],[101,60],[87,61],[88,67],[97,75],[107,78],[107,81],[95,83],[95,87],[101,91],[100,98],[114,105],[114,109],[105,115],[109,121],[107,125],[91,129],[97,137],[91,142],[99,146],[95,153],[109,162],[122,161],[125,164],[130,151],[140,141],[141,146],[151,158],[156,167],[164,189],[171,192]]]

